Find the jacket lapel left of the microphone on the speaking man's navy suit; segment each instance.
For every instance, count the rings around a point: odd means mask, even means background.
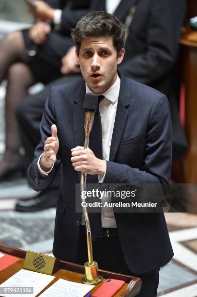
[[[85,82],[82,82],[81,85],[76,90],[74,94],[74,106],[73,106],[73,138],[74,145],[83,146],[84,145],[84,116],[85,109],[83,108],[84,97],[86,93]],[[81,172],[78,171],[78,176],[80,179]]]

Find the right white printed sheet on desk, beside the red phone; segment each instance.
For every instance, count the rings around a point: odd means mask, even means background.
[[[59,279],[40,297],[83,297],[95,286]]]

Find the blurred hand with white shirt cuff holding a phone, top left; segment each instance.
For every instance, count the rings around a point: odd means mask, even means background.
[[[47,3],[41,0],[35,0],[34,3],[35,3],[35,7],[29,4],[30,13],[34,18],[39,18],[40,20],[43,20],[43,21],[47,19],[54,21],[54,14],[55,14],[54,8],[52,8]]]

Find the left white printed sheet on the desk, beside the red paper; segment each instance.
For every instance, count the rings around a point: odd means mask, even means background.
[[[33,287],[33,294],[5,294],[2,297],[35,297],[42,291],[51,281],[54,276],[46,275],[39,272],[34,272],[26,269],[21,269],[16,272],[7,281],[0,284],[0,287]]]

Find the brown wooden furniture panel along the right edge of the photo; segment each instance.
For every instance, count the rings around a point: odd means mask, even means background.
[[[189,142],[184,169],[185,183],[197,183],[197,42],[190,40],[193,32],[187,28],[180,40],[184,50],[185,128]]]

